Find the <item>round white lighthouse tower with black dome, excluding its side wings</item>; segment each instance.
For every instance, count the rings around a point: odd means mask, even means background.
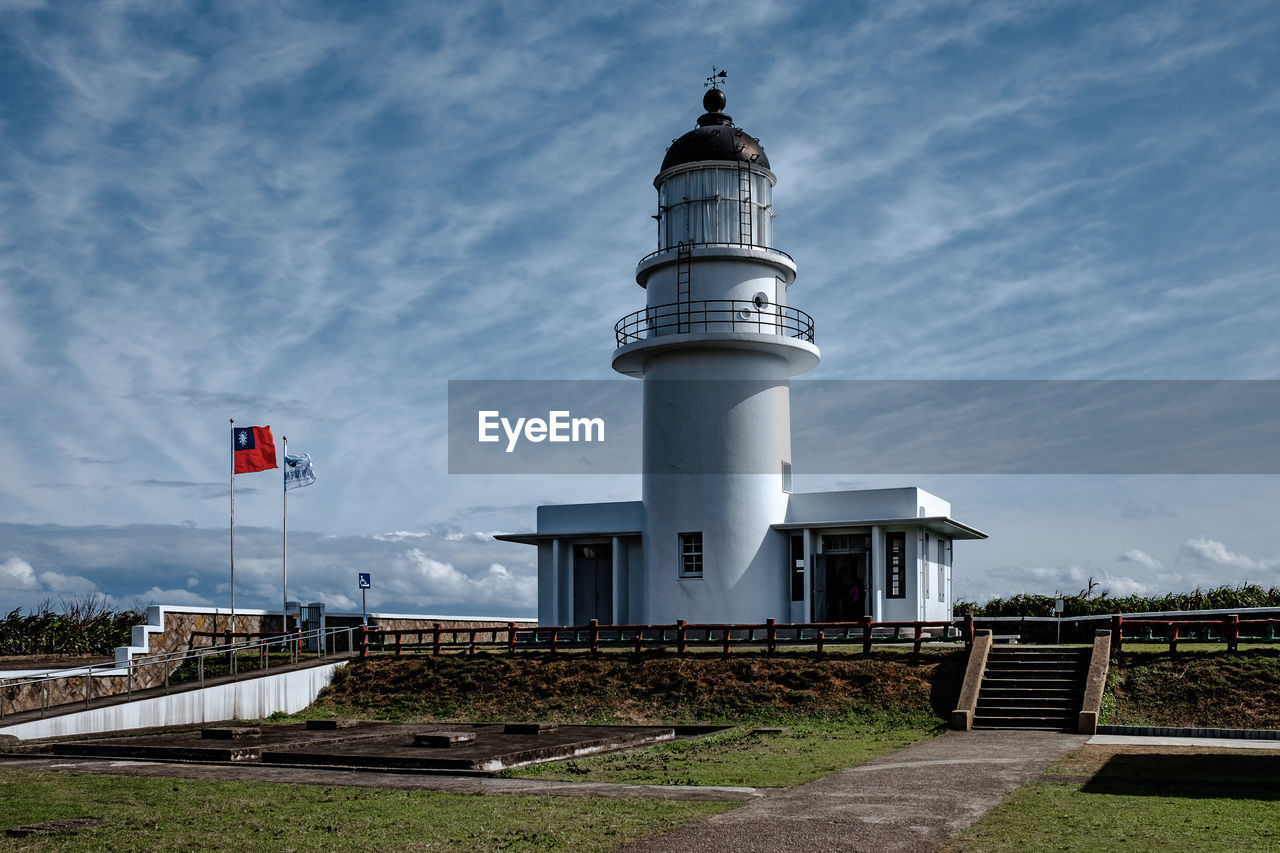
[[[791,479],[787,380],[818,365],[813,319],[773,247],[774,174],[712,87],[667,150],[645,307],[614,370],[644,378],[644,621],[786,620],[778,566]],[[676,583],[672,583],[675,580]]]

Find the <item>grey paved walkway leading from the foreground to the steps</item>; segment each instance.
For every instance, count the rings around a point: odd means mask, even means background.
[[[622,849],[924,853],[1085,740],[1052,731],[950,731]]]

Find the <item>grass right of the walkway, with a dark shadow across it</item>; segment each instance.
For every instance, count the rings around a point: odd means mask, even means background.
[[[1276,752],[1082,747],[943,849],[1274,850],[1277,802]]]

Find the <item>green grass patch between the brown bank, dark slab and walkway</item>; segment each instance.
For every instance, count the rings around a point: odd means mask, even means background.
[[[746,785],[785,788],[909,747],[941,733],[923,715],[794,719],[782,734],[753,726],[645,749],[534,765],[509,776],[652,785]],[[769,724],[774,725],[774,724]]]

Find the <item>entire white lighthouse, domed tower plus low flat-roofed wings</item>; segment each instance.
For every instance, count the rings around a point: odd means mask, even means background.
[[[773,247],[776,177],[708,90],[654,179],[645,307],[616,325],[613,369],[644,380],[641,501],[543,506],[543,625],[936,620],[951,544],[986,534],[918,488],[791,492],[788,379],[818,365]]]

